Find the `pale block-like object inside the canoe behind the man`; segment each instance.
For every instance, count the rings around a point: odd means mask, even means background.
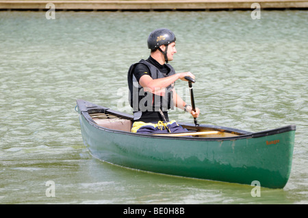
[[[131,131],[131,120],[127,119],[98,119],[98,118],[92,118],[94,122],[96,122],[99,126],[102,126],[104,128],[110,128],[117,131]]]

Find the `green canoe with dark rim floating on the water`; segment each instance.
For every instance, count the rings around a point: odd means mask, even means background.
[[[282,189],[290,176],[296,126],[249,133],[179,123],[191,135],[131,133],[132,115],[77,100],[92,156],[147,172]]]

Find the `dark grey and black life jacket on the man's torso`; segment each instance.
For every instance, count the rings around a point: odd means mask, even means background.
[[[129,104],[133,108],[133,112],[136,111],[167,111],[173,109],[173,85],[169,85],[165,88],[164,96],[158,96],[151,92],[145,92],[144,88],[138,83],[136,77],[133,75],[133,70],[137,64],[146,65],[151,73],[152,79],[164,78],[164,74],[160,72],[153,64],[141,59],[140,62],[132,64],[127,74],[127,81],[129,85]],[[166,64],[170,68],[168,76],[175,74],[175,69]]]

